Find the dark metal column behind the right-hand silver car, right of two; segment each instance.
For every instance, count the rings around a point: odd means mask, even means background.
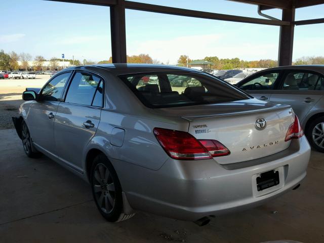
[[[282,20],[291,22],[291,25],[281,25],[279,35],[278,66],[292,65],[294,45],[295,8],[283,9]]]

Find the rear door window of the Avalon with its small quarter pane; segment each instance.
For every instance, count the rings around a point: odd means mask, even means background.
[[[97,88],[100,86],[100,83],[102,82],[98,76],[89,73],[76,72],[67,91],[65,103],[92,105],[95,93]],[[101,88],[101,92],[102,91]],[[98,99],[99,98],[96,99],[97,104]],[[98,106],[102,106],[102,104]]]

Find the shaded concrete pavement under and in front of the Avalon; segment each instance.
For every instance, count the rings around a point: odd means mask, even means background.
[[[90,186],[45,156],[28,158],[15,130],[0,130],[0,242],[324,242],[324,159],[312,151],[302,186],[204,227],[138,212],[112,224]]]

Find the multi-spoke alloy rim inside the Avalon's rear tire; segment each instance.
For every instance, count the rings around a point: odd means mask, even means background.
[[[95,199],[104,213],[110,213],[116,201],[113,178],[104,164],[98,164],[93,172],[93,190]]]

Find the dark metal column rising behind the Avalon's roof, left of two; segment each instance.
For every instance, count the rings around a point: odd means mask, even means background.
[[[110,32],[112,63],[126,63],[125,0],[110,7]]]

